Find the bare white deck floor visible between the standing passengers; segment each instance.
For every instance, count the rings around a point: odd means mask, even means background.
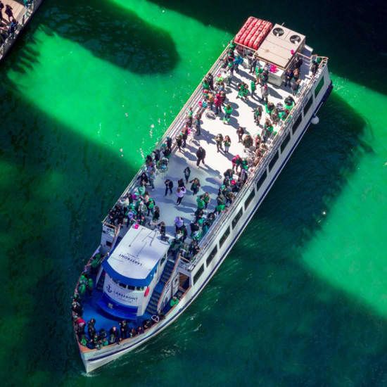
[[[307,76],[309,68],[307,65],[303,64],[300,73],[301,87],[303,87],[305,78]],[[214,75],[215,77],[215,75]],[[228,168],[231,168],[231,158],[239,154],[241,157],[245,156],[243,152],[243,145],[238,143],[238,136],[236,134],[236,129],[241,125],[245,128],[245,132],[249,133],[253,138],[257,133],[262,132],[262,125],[265,122],[266,113],[265,108],[263,107],[263,115],[261,118],[261,124],[259,127],[255,125],[253,119],[253,110],[260,102],[260,88],[258,87],[256,94],[253,98],[249,96],[248,101],[242,101],[237,99],[236,84],[239,82],[246,82],[250,86],[250,80],[253,79],[253,75],[248,74],[248,70],[239,66],[239,74],[234,72],[233,82],[231,88],[227,90],[227,101],[231,103],[233,112],[231,114],[231,120],[229,125],[224,125],[223,123],[223,113],[221,113],[221,118],[218,117],[215,120],[205,117],[205,114],[202,116],[202,125],[201,125],[201,136],[198,139],[189,139],[187,140],[187,146],[180,153],[179,151],[172,151],[170,156],[170,162],[167,172],[164,175],[158,175],[155,179],[155,189],[151,191],[148,189],[149,194],[156,201],[156,205],[160,208],[160,221],[163,220],[167,226],[167,234],[173,236],[175,234],[175,217],[181,216],[184,218],[184,224],[187,226],[187,230],[190,232],[189,224],[194,219],[194,212],[197,208],[196,198],[190,190],[191,184],[186,184],[186,195],[184,196],[182,203],[178,206],[176,205],[177,196],[177,181],[179,179],[184,179],[184,168],[189,165],[191,168],[190,179],[197,177],[201,182],[201,189],[198,195],[208,192],[211,196],[210,205],[208,206],[208,211],[213,211],[216,205],[217,191],[223,181],[223,172]],[[272,84],[268,84],[269,87],[269,102],[273,102],[274,105],[279,101],[284,101],[286,96],[291,94],[290,87],[286,89],[282,87],[275,87]],[[294,97],[297,102],[297,98]],[[276,128],[274,127],[274,130]],[[215,144],[214,137],[221,133],[223,137],[229,135],[231,138],[231,146],[229,148],[229,153],[224,154],[217,153],[217,148]],[[173,139],[175,144],[175,139]],[[268,143],[267,143],[268,144]],[[198,146],[201,145],[205,149],[205,166],[201,164],[200,167],[196,167],[196,151]],[[171,179],[174,183],[173,194],[165,194],[165,179]],[[125,232],[126,227],[122,231]]]

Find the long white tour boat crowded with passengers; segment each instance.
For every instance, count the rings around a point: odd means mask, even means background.
[[[318,122],[332,83],[328,58],[313,53],[305,39],[284,25],[248,18],[103,220],[101,244],[72,302],[87,372],[138,348],[182,315],[310,123]],[[219,134],[229,136],[228,152]]]

